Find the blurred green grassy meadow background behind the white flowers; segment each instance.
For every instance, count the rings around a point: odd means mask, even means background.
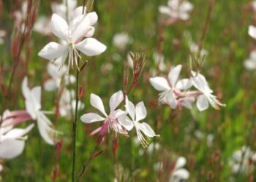
[[[84,94],[81,101],[85,108],[79,115],[94,109],[89,104],[91,92],[100,95],[105,104],[113,92],[123,90],[124,66],[127,53],[146,52],[146,65],[140,77],[138,87],[129,95],[129,98],[138,103],[143,100],[148,115],[146,122],[151,124],[157,132],[170,116],[170,108],[157,105],[157,91],[148,82],[151,68],[157,68],[153,59],[153,52],[157,51],[159,39],[159,11],[160,4],[165,0],[108,0],[94,1],[94,11],[99,16],[95,36],[107,45],[107,50],[89,60],[88,66],[80,76],[80,85]],[[163,31],[163,53],[167,68],[181,63],[184,66],[183,75],[188,76],[189,47],[187,34],[197,42],[202,34],[203,24],[208,10],[208,1],[193,0],[194,9],[188,21],[179,21],[173,25],[165,26]],[[153,143],[159,143],[159,149],[150,153],[142,146],[137,145],[133,138],[136,133],[130,133],[129,138],[118,138],[119,147],[117,159],[114,160],[111,135],[106,138],[104,152],[93,159],[83,181],[165,181],[166,173],[159,175],[154,170],[157,162],[168,161],[175,163],[177,157],[187,158],[186,168],[189,170],[189,181],[256,181],[256,167],[252,173],[233,174],[229,159],[233,152],[242,146],[250,146],[256,151],[255,135],[255,71],[247,71],[243,62],[249,57],[249,52],[255,48],[256,42],[248,36],[248,25],[256,24],[256,16],[248,0],[217,0],[212,12],[211,23],[206,35],[204,49],[208,56],[201,72],[206,76],[210,86],[214,88],[217,97],[226,103],[220,111],[213,108],[207,111],[189,111],[183,109],[176,111],[177,116],[165,123],[160,130],[159,138],[154,138]],[[16,6],[12,1],[5,1],[6,7],[0,22],[1,29],[8,31],[5,43],[0,45],[0,60],[4,83],[8,84],[12,69],[10,55],[10,38],[12,35],[12,21],[10,10]],[[78,1],[78,4],[83,4]],[[39,15],[50,17],[50,1],[40,1]],[[39,16],[38,15],[38,16]],[[113,47],[113,36],[116,33],[126,32],[133,41],[126,50],[120,51]],[[12,96],[7,101],[6,108],[10,110],[25,108],[20,83],[23,76],[29,75],[31,85],[42,85],[48,78],[46,73],[47,60],[37,56],[39,50],[54,40],[55,37],[42,36],[32,32],[28,56],[22,52],[28,66],[20,64],[12,84]],[[112,68],[111,68],[112,67]],[[169,70],[168,70],[169,71]],[[167,72],[166,72],[167,73]],[[75,74],[75,70],[71,70]],[[75,87],[75,84],[69,87]],[[0,93],[2,95],[2,93]],[[54,106],[56,92],[42,92],[42,106],[50,111]],[[3,101],[1,97],[1,101]],[[108,107],[108,106],[106,106]],[[1,106],[0,108],[3,108]],[[59,176],[57,181],[68,181],[71,173],[72,162],[72,122],[68,118],[49,116],[56,128],[64,132],[61,136],[63,146],[59,156]],[[84,124],[78,121],[77,143],[77,169],[89,158],[94,149],[97,137],[89,133],[99,124]],[[208,144],[209,135],[214,137]],[[143,152],[141,151],[143,150]],[[32,130],[23,154],[16,159],[4,162],[4,171],[1,173],[4,181],[51,181],[53,168],[56,164],[56,149],[48,146],[39,137],[37,130]],[[142,154],[143,153],[143,154]],[[255,165],[255,164],[254,164]],[[117,177],[118,176],[118,177]]]

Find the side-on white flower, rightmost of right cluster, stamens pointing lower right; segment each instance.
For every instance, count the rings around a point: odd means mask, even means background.
[[[214,91],[208,86],[205,76],[192,71],[191,80],[194,87],[202,92],[202,95],[199,95],[197,98],[197,108],[199,111],[206,110],[209,107],[209,103],[215,109],[219,109],[219,106],[225,106],[212,94]]]

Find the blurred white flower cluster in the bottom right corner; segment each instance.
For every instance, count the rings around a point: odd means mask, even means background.
[[[255,163],[256,152],[249,146],[243,146],[240,150],[234,151],[229,161],[233,173],[251,173]]]

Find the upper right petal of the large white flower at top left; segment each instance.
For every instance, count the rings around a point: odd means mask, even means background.
[[[78,41],[83,38],[89,31],[90,19],[86,15],[80,15],[75,17],[70,24],[70,30],[72,34],[72,41]]]

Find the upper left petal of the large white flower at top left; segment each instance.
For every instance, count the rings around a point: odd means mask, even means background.
[[[51,28],[53,33],[62,40],[68,40],[69,36],[69,26],[67,25],[66,20],[63,17],[53,14],[51,17]]]

